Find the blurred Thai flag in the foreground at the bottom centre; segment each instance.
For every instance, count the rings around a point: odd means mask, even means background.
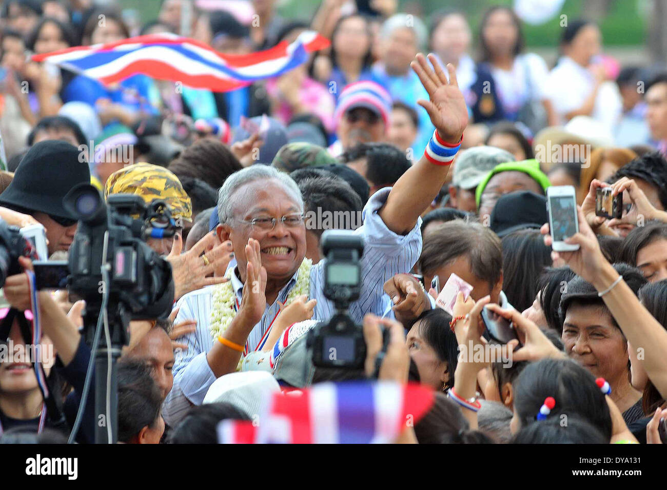
[[[275,393],[259,423],[222,421],[221,443],[392,443],[434,403],[420,385],[380,381],[321,383],[311,389]]]

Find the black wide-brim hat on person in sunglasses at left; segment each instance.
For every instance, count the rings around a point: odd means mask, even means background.
[[[63,197],[75,185],[90,183],[86,154],[65,141],[49,139],[36,143],[21,159],[14,178],[0,194],[0,206],[76,219],[65,211]]]

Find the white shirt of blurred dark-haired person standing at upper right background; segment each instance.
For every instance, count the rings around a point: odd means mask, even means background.
[[[584,105],[594,87],[595,77],[588,69],[570,57],[564,56],[560,59],[549,74],[546,92],[554,105],[554,111],[561,118],[561,123],[567,122],[565,117],[567,113]],[[622,102],[616,84],[611,81],[602,83],[598,89],[591,117],[612,131],[621,111]]]

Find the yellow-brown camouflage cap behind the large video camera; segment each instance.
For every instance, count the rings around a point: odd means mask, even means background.
[[[181,181],[158,165],[139,162],[115,171],[104,186],[104,197],[109,194],[140,195],[146,204],[153,199],[164,199],[173,217],[192,221],[192,205]]]

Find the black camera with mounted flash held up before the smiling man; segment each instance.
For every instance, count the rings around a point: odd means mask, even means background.
[[[333,301],[338,312],[328,323],[321,323],[308,333],[313,365],[360,369],[366,360],[364,331],[347,310],[352,301],[359,299],[364,239],[353,231],[327,230],[320,245],[325,257],[324,295]]]

